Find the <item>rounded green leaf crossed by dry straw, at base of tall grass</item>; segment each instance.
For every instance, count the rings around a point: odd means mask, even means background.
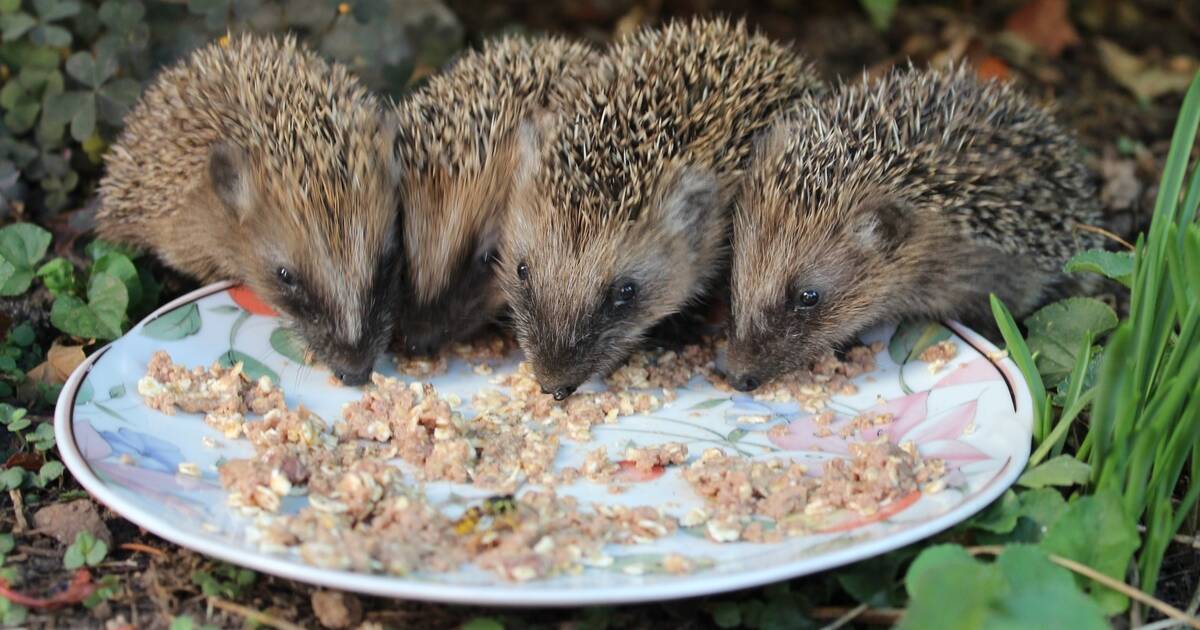
[[[1081,535],[1085,532],[1088,535]],[[1112,492],[1072,502],[1042,541],[1045,551],[1084,563],[1122,582],[1138,546],[1138,528]],[[1076,581],[1105,614],[1116,614],[1129,604],[1124,595],[1086,577],[1076,576]]]

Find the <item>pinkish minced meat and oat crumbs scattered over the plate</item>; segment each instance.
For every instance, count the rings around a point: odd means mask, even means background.
[[[322,419],[304,407],[289,409],[278,388],[265,378],[251,382],[240,365],[187,370],[161,352],[138,391],[155,409],[203,413],[227,438],[248,440],[253,457],[228,460],[218,468],[229,504],[256,516],[253,532],[262,548],[292,550],[330,569],[404,575],[452,571],[470,563],[523,582],[611,565],[606,545],[646,544],[679,527],[703,528],[720,542],[767,542],[811,530],[812,518],[822,514],[872,514],[912,491],[941,488],[941,461],[920,458],[911,444],[898,448],[883,440],[854,444],[848,458],[830,460],[818,472],[781,458],[732,457],[718,449],[688,464],[688,446],[666,443],[628,448],[622,462],[596,448],[578,468],[556,473],[560,440],[587,442],[592,426],[659,408],[658,396],[638,390],[661,388],[662,398],[671,401],[673,388],[697,376],[727,389],[713,367],[721,343],[706,340],[678,353],[637,353],[610,376],[610,390],[581,391],[562,402],[541,394],[529,365],[521,364],[493,380],[504,390],[474,396],[474,418],[464,418],[457,410],[461,401],[439,395],[431,384],[373,374],[371,386],[343,406],[340,419]],[[486,373],[490,361],[504,359],[514,347],[511,340],[497,337],[456,346],[451,353]],[[852,391],[851,379],[872,370],[881,349],[856,348],[845,361],[829,354],[811,372],[786,377],[761,396],[821,412],[816,424],[829,431],[834,414],[823,410],[824,403]],[[444,371],[446,358],[404,359],[398,366],[424,378]],[[850,425],[862,430],[890,421],[887,414],[864,414]],[[761,424],[757,418],[739,422]],[[515,493],[524,484],[542,487],[502,499],[511,505],[504,514],[484,510],[484,502],[456,518],[407,484],[390,463],[395,458],[412,466],[419,482],[469,482],[497,494]],[[656,506],[582,508],[554,492],[556,484],[580,479],[623,492],[628,486],[614,484],[623,466],[640,473],[680,466],[704,505],[677,520]],[[188,468],[185,474],[196,472]],[[286,497],[300,494],[307,496],[307,506],[290,515],[280,511]],[[696,566],[678,554],[665,556],[660,564],[670,574]],[[643,570],[636,563],[629,566],[630,572]]]

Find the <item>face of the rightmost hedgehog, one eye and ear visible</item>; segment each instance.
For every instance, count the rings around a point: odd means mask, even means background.
[[[805,368],[888,317],[905,290],[888,275],[904,242],[896,208],[874,198],[832,210],[739,206],[726,370],[736,389]]]

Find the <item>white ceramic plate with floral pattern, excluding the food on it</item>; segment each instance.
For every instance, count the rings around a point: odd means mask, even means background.
[[[896,365],[890,358],[890,346],[895,346],[902,361],[902,337],[911,340],[911,336],[895,335],[888,328],[864,340],[889,346],[876,358],[880,368],[856,379],[859,390],[856,395],[834,398],[832,409],[838,412],[838,420],[833,437],[814,437],[811,415],[794,403],[762,403],[748,396],[730,396],[696,378],[678,390],[678,400],[653,415],[628,416],[617,425],[598,426],[589,444],[564,442],[556,466],[577,466],[598,443],[608,446],[608,452],[623,452],[630,442],[637,445],[686,442],[692,457],[706,448],[719,446],[746,457],[820,461],[846,452],[847,443],[836,436],[840,422],[875,409],[895,418],[890,425],[877,428],[878,434],[887,434],[895,443],[912,440],[924,456],[947,461],[948,485],[941,492],[917,492],[872,518],[779,544],[714,544],[680,530],[650,545],[610,547],[606,551],[616,558],[611,568],[523,584],[506,583],[474,568],[406,577],[323,570],[293,556],[258,551],[246,538],[247,520],[227,508],[215,464],[222,457],[248,456],[252,451],[247,443],[226,439],[205,426],[199,415],[167,416],[149,409],[137,394],[137,380],[145,374],[155,350],[164,349],[176,362],[188,366],[209,365],[234,353],[248,370],[265,370],[275,376],[290,407],[302,403],[323,418],[340,418],[341,404],[358,398],[360,391],[330,386],[328,373],[289,359],[287,354],[295,353],[281,343],[278,322],[257,314],[262,310],[248,298],[232,292],[227,284],[206,287],[163,306],[126,336],[96,352],[71,376],[59,397],[55,412],[59,449],[71,473],[94,497],[158,536],[258,571],[344,590],[479,605],[578,606],[754,587],[884,553],[952,527],[1003,492],[1025,467],[1030,454],[1032,400],[1010,360],[990,359],[998,355],[994,346],[960,325],[948,324],[949,330],[943,334],[958,346],[958,355],[942,370],[931,373],[928,364],[920,361]],[[496,370],[498,373],[514,370],[518,360],[520,356],[512,356],[496,365]],[[395,374],[388,360],[380,360],[378,367]],[[467,401],[479,388],[496,386],[456,361],[451,361],[448,373],[432,382],[439,391],[456,392]],[[737,424],[737,418],[746,415],[766,415],[769,421]],[[779,424],[788,425],[786,431],[768,433]],[[204,436],[222,446],[203,446]],[[866,437],[874,434],[858,439]],[[176,475],[181,461],[198,463],[203,476]],[[473,497],[486,494],[450,484],[431,484],[428,491],[433,500],[449,497],[451,491]],[[584,499],[583,505],[589,500],[649,504],[676,516],[702,504],[676,469],[634,482],[620,494],[610,494],[606,486],[587,481],[571,486],[568,493]],[[710,565],[683,576],[656,572],[655,559],[668,552]],[[648,570],[631,575],[636,571],[629,569],[631,564]]]

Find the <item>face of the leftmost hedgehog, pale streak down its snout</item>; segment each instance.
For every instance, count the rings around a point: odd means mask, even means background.
[[[210,155],[209,176],[228,211],[242,280],[317,360],[344,384],[362,384],[391,340],[401,263],[392,186],[368,170],[305,186],[329,178],[310,164],[280,173],[259,163],[229,144]]]

